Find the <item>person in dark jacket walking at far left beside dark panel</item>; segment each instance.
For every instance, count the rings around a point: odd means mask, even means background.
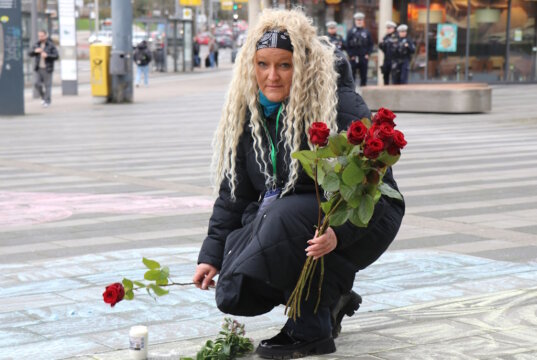
[[[35,58],[34,88],[41,97],[42,106],[49,107],[52,92],[54,61],[58,60],[58,50],[45,30],[37,33],[38,41],[28,55]]]

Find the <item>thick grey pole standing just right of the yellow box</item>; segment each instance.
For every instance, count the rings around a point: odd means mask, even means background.
[[[132,5],[130,1],[112,0],[110,75],[110,102],[132,102]]]

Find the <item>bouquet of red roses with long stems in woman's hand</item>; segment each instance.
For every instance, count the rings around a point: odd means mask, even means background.
[[[311,125],[308,134],[314,150],[298,151],[292,156],[315,181],[319,203],[317,236],[329,226],[339,226],[347,221],[366,227],[381,195],[403,199],[398,191],[382,182],[386,170],[399,160],[401,149],[407,144],[403,133],[394,129],[394,119],[393,112],[381,108],[372,122],[367,118],[354,121],[347,131],[333,136],[325,123]],[[319,185],[325,192],[325,201],[321,200]],[[305,299],[309,297],[317,263],[320,263],[317,311],[324,259],[308,256],[285,308],[289,317],[296,319],[300,316],[300,301],[304,290]]]

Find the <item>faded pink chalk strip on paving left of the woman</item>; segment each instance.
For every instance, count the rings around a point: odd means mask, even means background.
[[[187,214],[208,212],[208,197],[56,194],[0,191],[0,226],[21,226],[67,219],[76,214]]]

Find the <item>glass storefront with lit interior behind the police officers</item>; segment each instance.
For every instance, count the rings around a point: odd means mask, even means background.
[[[366,14],[377,41],[379,0],[302,0],[320,29],[335,20],[345,31]],[[392,0],[393,21],[416,44],[410,82],[536,82],[537,0]],[[322,31],[320,31],[322,32]],[[343,33],[344,31],[342,31]],[[377,80],[377,49],[369,81]]]

